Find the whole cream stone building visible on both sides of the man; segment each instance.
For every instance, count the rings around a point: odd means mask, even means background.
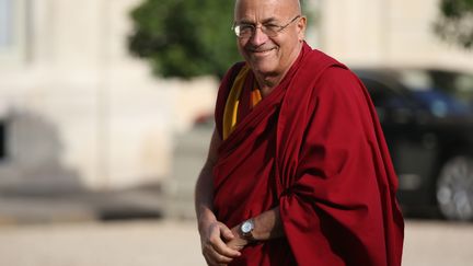
[[[438,0],[307,1],[310,43],[349,66],[473,71],[471,53],[431,32]],[[139,2],[0,0],[0,190],[113,189],[170,174],[173,134],[212,111],[217,84],[155,79],[128,54]]]

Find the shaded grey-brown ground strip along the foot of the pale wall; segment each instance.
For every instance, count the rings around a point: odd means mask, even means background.
[[[109,192],[0,192],[0,223],[160,219],[162,207],[160,185]]]

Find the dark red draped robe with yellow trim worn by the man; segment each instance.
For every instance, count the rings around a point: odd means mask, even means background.
[[[233,228],[278,207],[286,236],[231,265],[401,265],[397,181],[362,83],[307,44],[269,95],[255,83],[241,62],[220,85],[214,208]]]

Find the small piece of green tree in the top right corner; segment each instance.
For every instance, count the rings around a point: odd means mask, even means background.
[[[441,0],[434,28],[442,39],[473,48],[473,0]]]

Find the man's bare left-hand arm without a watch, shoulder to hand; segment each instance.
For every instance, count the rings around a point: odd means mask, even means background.
[[[220,137],[214,130],[207,160],[197,178],[195,188],[195,209],[201,250],[209,265],[228,264],[240,255],[240,252],[226,245],[224,242],[231,241],[234,235],[226,224],[217,220],[212,211],[212,169],[217,162],[217,149],[220,143]]]

